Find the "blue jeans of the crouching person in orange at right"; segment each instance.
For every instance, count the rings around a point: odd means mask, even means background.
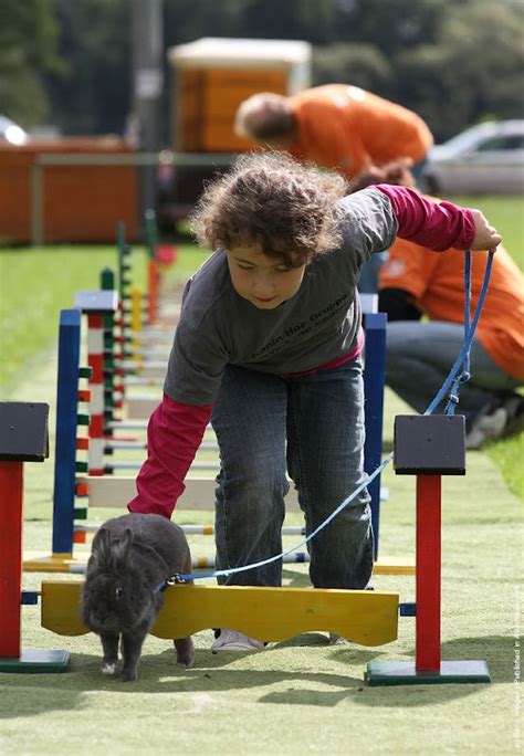
[[[464,327],[443,321],[395,321],[388,323],[386,340],[386,384],[422,414],[460,354]],[[467,431],[496,391],[511,391],[521,384],[495,365],[476,337],[470,359],[471,378],[460,387],[457,408],[465,417]],[[443,411],[446,401],[447,397],[437,411]]]

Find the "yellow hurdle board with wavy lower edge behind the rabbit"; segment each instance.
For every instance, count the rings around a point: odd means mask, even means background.
[[[88,632],[80,619],[82,581],[42,582],[42,627],[61,636]],[[399,596],[390,591],[179,585],[151,632],[166,639],[232,628],[262,641],[334,632],[361,645],[397,639]]]

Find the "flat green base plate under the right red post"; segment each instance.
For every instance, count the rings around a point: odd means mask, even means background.
[[[418,671],[415,662],[368,662],[369,685],[437,685],[441,683],[491,682],[484,661],[441,662],[440,671]]]

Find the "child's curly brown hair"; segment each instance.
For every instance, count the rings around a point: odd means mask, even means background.
[[[190,228],[202,246],[256,242],[290,266],[307,264],[338,244],[337,200],[347,191],[342,176],[284,153],[247,153],[207,185]]]

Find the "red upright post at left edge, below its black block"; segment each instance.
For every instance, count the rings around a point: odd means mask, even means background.
[[[23,463],[0,462],[0,657],[20,657]]]

